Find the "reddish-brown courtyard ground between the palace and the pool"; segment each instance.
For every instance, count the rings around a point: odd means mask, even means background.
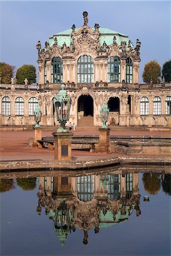
[[[47,131],[49,130],[49,131]],[[56,128],[49,128],[42,132],[42,137],[52,136]],[[78,127],[76,131],[72,131],[75,135],[98,135],[97,127]],[[126,130],[112,129],[111,135],[151,135],[151,136],[170,136],[170,131],[146,131],[146,130]],[[28,147],[28,139],[34,137],[34,131],[1,131],[0,132],[0,160],[31,160],[43,159],[53,160],[53,150],[46,148],[32,148]],[[122,154],[112,153],[111,156],[118,156]],[[152,155],[152,154],[151,154]],[[104,158],[107,154],[104,153],[90,153],[89,151],[72,150],[73,159],[94,159]],[[108,155],[109,156],[109,155]],[[156,155],[156,158],[159,155]]]

